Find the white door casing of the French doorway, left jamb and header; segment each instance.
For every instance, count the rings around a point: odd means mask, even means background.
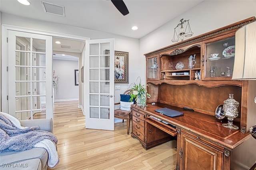
[[[61,33],[55,33],[55,32],[47,32],[43,30],[35,30],[35,29],[30,29],[30,28],[23,28],[23,27],[18,27],[18,26],[10,26],[10,25],[5,25],[2,24],[2,74],[1,74],[1,95],[2,95],[2,112],[8,113],[8,74],[7,74],[7,66],[8,66],[8,57],[3,57],[3,56],[8,56],[8,43],[7,43],[7,38],[8,38],[8,31],[17,31],[17,32],[27,32],[27,33],[32,33],[32,34],[40,34],[40,35],[45,35],[45,36],[52,36],[54,38],[64,38],[64,39],[70,39],[70,40],[77,40],[77,41],[86,41],[90,40],[88,37],[82,37],[82,36],[73,36],[73,35],[68,35],[68,34],[61,34]],[[82,56],[84,57],[84,56]],[[53,118],[53,114],[50,115],[50,117],[47,118]]]

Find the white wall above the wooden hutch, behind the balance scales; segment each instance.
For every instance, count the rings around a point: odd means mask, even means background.
[[[172,45],[174,28],[182,18],[190,20],[193,38],[252,16],[256,16],[256,0],[205,0],[141,38],[140,55]]]

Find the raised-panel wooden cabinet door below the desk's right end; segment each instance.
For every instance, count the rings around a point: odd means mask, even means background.
[[[222,170],[222,152],[181,133],[180,170]]]

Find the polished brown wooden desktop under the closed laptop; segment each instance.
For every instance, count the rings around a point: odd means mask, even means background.
[[[217,145],[228,148],[229,150],[234,149],[236,146],[250,138],[249,132],[242,133],[240,130],[232,130],[223,127],[222,123],[227,123],[226,119],[220,122],[214,116],[195,111],[184,111],[183,108],[173,107],[162,103],[156,103],[156,105],[151,105],[148,103],[148,107],[145,108],[137,107],[136,105],[132,105],[132,107],[142,109],[148,115],[162,119],[163,121],[166,121],[177,128],[184,129],[206,140],[210,140]],[[184,115],[168,117],[155,111],[156,109],[163,107],[184,112]]]

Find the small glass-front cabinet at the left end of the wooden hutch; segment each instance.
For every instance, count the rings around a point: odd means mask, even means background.
[[[153,55],[147,58],[147,79],[159,80],[159,55]]]

